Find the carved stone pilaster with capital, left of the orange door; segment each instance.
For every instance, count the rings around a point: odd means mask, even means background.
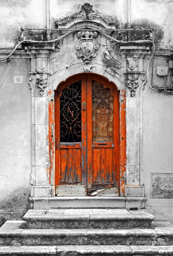
[[[48,146],[48,85],[49,55],[55,43],[28,44],[25,49],[31,57],[31,72],[28,77],[32,105],[32,173],[31,196],[50,197],[52,186],[47,172],[49,163]]]

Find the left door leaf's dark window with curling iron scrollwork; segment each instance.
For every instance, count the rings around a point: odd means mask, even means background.
[[[60,97],[60,142],[81,142],[81,82],[62,90]]]

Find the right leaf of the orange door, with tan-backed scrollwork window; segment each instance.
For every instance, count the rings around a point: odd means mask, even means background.
[[[87,187],[118,186],[115,174],[119,168],[119,94],[116,87],[89,74],[87,105]]]

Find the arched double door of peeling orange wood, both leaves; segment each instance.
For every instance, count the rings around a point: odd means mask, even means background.
[[[119,92],[92,74],[60,84],[55,99],[55,184],[119,186]]]

